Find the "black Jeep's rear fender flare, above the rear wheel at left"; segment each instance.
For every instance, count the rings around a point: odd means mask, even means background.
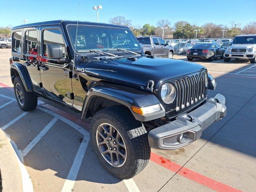
[[[16,77],[15,72],[17,72],[22,80],[22,83],[24,84],[24,87],[27,92],[31,92],[33,90],[31,79],[28,78],[27,71],[20,63],[12,63],[10,66],[10,72],[11,72],[11,78],[12,83],[14,81],[14,78]]]

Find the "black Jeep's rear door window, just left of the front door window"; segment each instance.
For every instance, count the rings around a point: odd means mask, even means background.
[[[37,31],[26,31],[25,32],[25,54],[37,55],[38,44],[37,44]]]

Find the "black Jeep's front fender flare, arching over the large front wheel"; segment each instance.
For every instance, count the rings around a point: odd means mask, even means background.
[[[110,83],[100,83],[91,88],[86,95],[84,105],[82,108],[81,118],[84,119],[86,117],[86,113],[88,111],[90,101],[93,97],[99,96],[106,98],[108,100],[113,100],[118,102],[131,111],[134,118],[141,122],[146,122],[149,120],[154,120],[160,117],[165,116],[165,110],[160,103],[160,101],[156,98],[156,96],[152,93],[148,93],[142,90],[130,88],[127,86],[110,84]],[[136,107],[146,107],[160,104],[162,110],[158,112],[154,112],[152,114],[140,115],[136,114],[131,110],[132,106]]]

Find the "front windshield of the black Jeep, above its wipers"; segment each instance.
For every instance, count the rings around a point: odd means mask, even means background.
[[[108,52],[109,50],[113,53],[113,49],[119,54],[124,54],[119,51],[120,49],[142,52],[138,40],[130,29],[88,25],[77,27],[70,24],[67,30],[72,48],[74,50],[76,48],[76,52],[80,54],[95,54],[95,51]]]

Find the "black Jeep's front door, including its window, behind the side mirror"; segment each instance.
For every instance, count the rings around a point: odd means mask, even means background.
[[[66,57],[66,46],[59,28],[42,28],[41,30],[41,61],[40,74],[44,92],[47,97],[67,105],[73,105],[72,79],[66,72],[72,71],[70,64],[63,64],[57,59],[47,57],[47,44],[61,44],[63,58]]]

